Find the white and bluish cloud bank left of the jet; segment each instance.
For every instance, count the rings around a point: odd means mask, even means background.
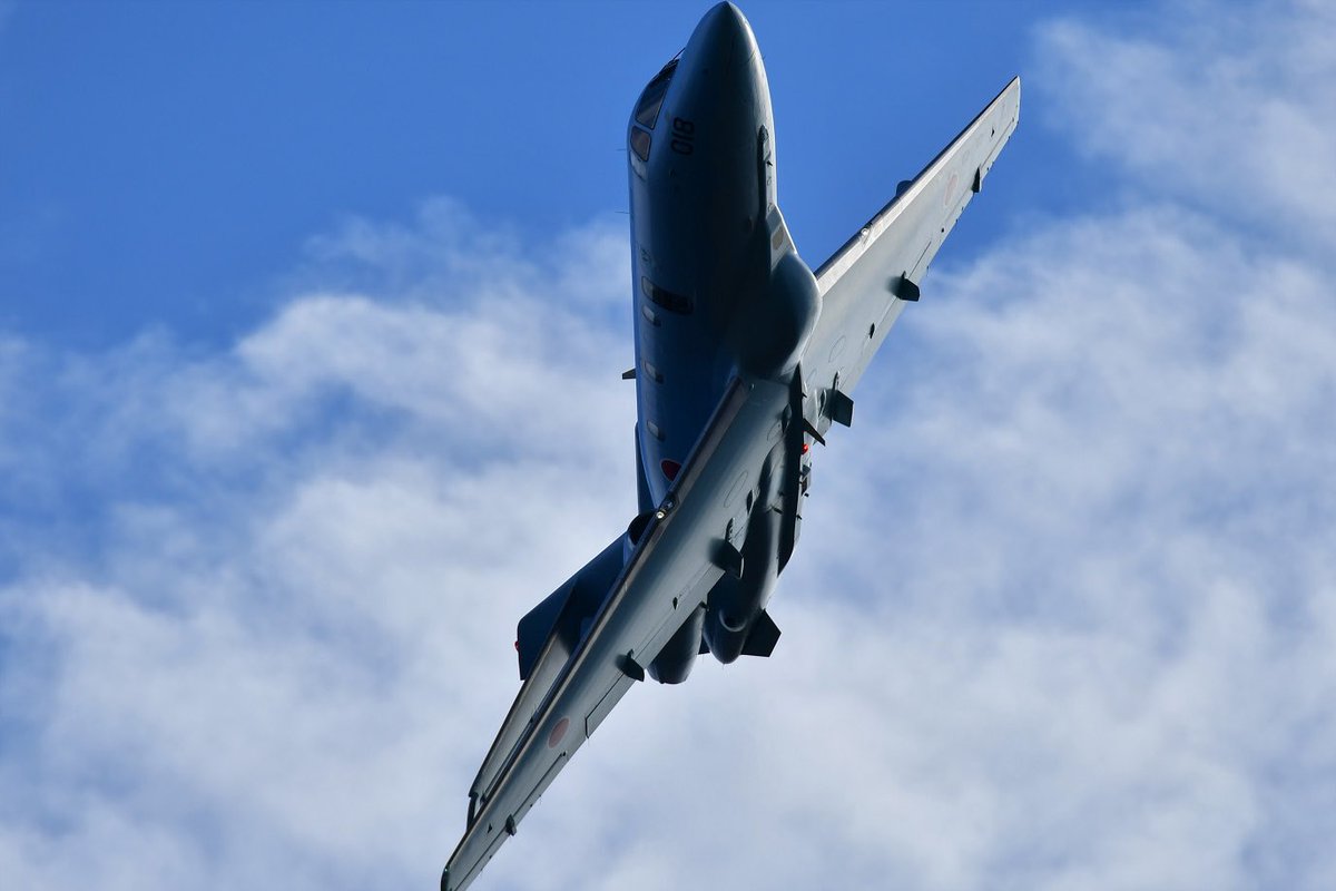
[[[16,887],[430,880],[514,620],[633,506],[629,346],[566,290],[609,239],[473,258],[504,299],[303,297],[222,355],[7,349]]]

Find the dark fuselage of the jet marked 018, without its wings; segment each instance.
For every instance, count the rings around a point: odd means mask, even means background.
[[[705,15],[632,111],[636,439],[647,509],[668,497],[729,381],[791,374],[815,323],[815,279],[776,206],[774,132],[760,51],[731,4]],[[776,445],[772,470],[747,496],[745,521],[725,536],[736,572],[649,667],[665,683],[684,680],[699,652],[725,663],[768,653],[748,639],[780,568],[778,514],[796,510],[780,504],[780,482],[794,474],[783,466],[787,442]]]

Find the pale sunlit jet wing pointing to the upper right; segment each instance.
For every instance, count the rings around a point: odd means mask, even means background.
[[[983,187],[1019,114],[1021,79],[1015,77],[816,270],[822,313],[803,358],[804,379],[852,391],[904,303],[918,299],[929,263]],[[823,414],[822,429],[827,426],[830,418]]]

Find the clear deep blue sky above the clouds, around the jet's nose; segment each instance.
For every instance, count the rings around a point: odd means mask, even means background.
[[[775,61],[790,215],[814,258],[1022,68],[1030,16],[1050,8],[751,11]],[[541,238],[625,210],[625,110],[697,12],[13,4],[0,55],[0,318],[92,346],[155,325],[216,345],[271,311],[306,239],[347,215],[406,218],[449,195]],[[1027,130],[1015,164],[1062,151]],[[1070,200],[1081,174],[1063,170],[1073,179],[1030,190],[1034,206]]]

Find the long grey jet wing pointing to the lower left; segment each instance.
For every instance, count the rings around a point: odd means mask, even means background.
[[[469,826],[441,876],[460,891],[486,866],[644,668],[723,574],[747,493],[786,429],[788,387],[735,378],[603,609],[568,660],[534,672],[474,781]],[[541,661],[541,660],[540,660]]]

